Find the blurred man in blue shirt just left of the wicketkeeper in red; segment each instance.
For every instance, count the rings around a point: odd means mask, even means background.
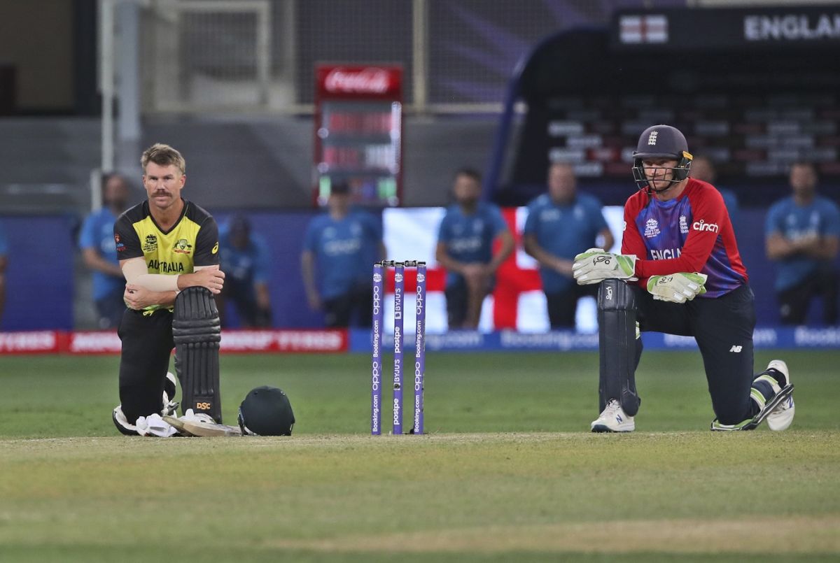
[[[601,212],[601,201],[577,191],[575,170],[570,164],[549,167],[549,192],[528,204],[523,231],[525,252],[539,263],[551,328],[574,328],[578,300],[596,296],[597,288],[575,284],[575,255],[587,248],[612,248],[612,232]]]

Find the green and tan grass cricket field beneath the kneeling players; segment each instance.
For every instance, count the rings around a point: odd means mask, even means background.
[[[775,355],[782,433],[708,431],[696,352],[646,352],[632,435],[587,431],[595,354],[431,353],[402,437],[369,357],[226,355],[226,421],[272,384],[295,435],[168,440],[117,435],[117,357],[0,357],[0,560],[838,560],[840,352]]]

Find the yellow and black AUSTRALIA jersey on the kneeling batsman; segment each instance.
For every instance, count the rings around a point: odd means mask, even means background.
[[[192,274],[196,266],[218,264],[218,226],[213,216],[190,201],[178,221],[163,231],[149,211],[149,201],[118,217],[113,226],[117,258],[144,258],[149,274]],[[157,309],[152,305],[147,309]]]

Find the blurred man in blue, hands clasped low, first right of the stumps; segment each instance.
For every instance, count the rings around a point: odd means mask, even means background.
[[[499,208],[479,201],[481,176],[460,169],[454,178],[456,203],[438,229],[435,259],[446,268],[446,312],[449,328],[475,329],[481,304],[490,293],[496,269],[513,251],[513,236]],[[493,243],[500,244],[493,253]]]

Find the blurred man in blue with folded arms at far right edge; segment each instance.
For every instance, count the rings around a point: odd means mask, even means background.
[[[778,263],[776,297],[782,324],[805,323],[808,306],[822,295],[822,318],[837,324],[837,268],[840,210],[816,195],[816,169],[801,162],[790,168],[793,195],[777,201],[767,214],[767,258]]]

